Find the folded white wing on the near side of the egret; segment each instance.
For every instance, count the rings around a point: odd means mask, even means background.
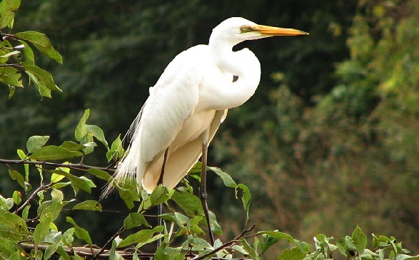
[[[148,163],[161,157],[178,135],[198,103],[203,71],[197,60],[191,49],[178,54],[150,89],[138,122],[133,125],[128,155],[119,165],[117,175],[128,176],[136,171],[137,180],[141,181]]]

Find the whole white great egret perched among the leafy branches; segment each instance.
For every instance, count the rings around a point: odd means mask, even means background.
[[[213,243],[206,204],[208,144],[227,110],[251,98],[261,78],[261,64],[253,52],[232,48],[246,40],[306,34],[232,17],[213,28],[208,45],[178,54],[149,89],[150,96],[128,131],[128,155],[118,165],[115,180],[136,176],[147,192],[158,184],[173,188],[202,155],[200,194]],[[106,193],[110,190],[111,184]]]

